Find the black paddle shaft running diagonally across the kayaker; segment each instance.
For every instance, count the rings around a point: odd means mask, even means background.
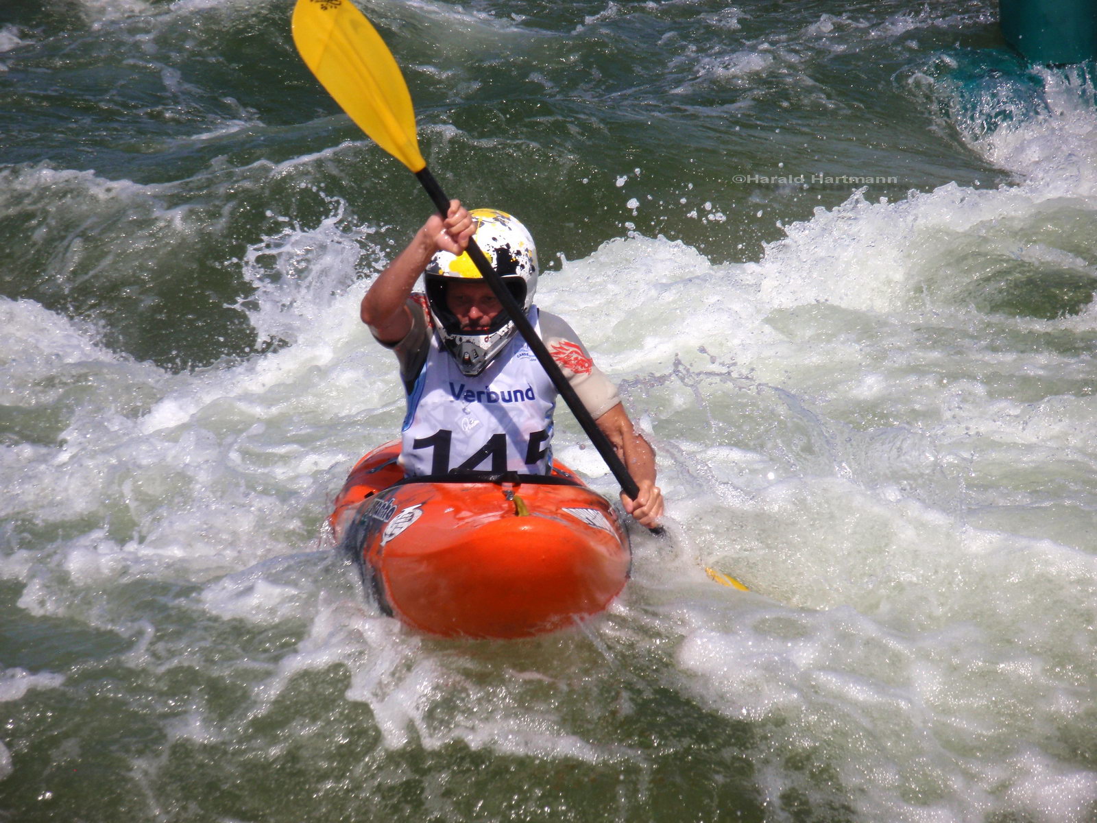
[[[434,207],[438,208],[439,213],[444,217],[450,211],[450,199],[445,196],[442,191],[442,187],[438,184],[434,176],[430,173],[430,169],[423,168],[422,171],[417,171],[415,173],[419,182],[422,183],[422,188],[427,190],[430,199],[434,202]],[[598,453],[602,455],[602,460],[606,461],[606,465],[609,466],[610,471],[613,472],[613,476],[617,477],[618,483],[621,484],[621,489],[629,495],[631,498],[636,499],[636,495],[640,494],[640,487],[636,485],[636,481],[632,478],[625,464],[621,462],[621,459],[617,455],[617,451],[613,449],[613,444],[610,439],[606,437],[598,424],[595,422],[595,418],[590,416],[587,412],[587,407],[583,405],[579,399],[579,395],[575,393],[572,388],[572,384],[567,382],[564,373],[556,365],[556,361],[552,359],[552,354],[548,353],[548,348],[544,345],[544,341],[538,336],[538,332],[533,329],[530,324],[529,318],[525,316],[525,312],[522,307],[518,305],[518,301],[514,300],[514,295],[510,293],[506,284],[502,282],[495,269],[491,267],[491,262],[484,255],[480,247],[476,245],[475,238],[470,238],[468,240],[468,257],[472,258],[473,262],[476,263],[476,268],[479,269],[480,274],[487,284],[491,286],[491,291],[495,292],[495,296],[499,298],[499,303],[502,304],[504,311],[513,322],[514,326],[518,327],[519,334],[525,340],[530,350],[536,356],[538,362],[548,374],[552,380],[553,385],[556,386],[556,391],[559,392],[561,397],[567,403],[568,408],[572,409],[572,414],[579,421],[583,430],[587,432],[587,437],[590,438],[590,442],[595,444],[598,449]]]

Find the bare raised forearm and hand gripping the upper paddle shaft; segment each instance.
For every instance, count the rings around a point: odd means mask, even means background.
[[[473,218],[457,200],[450,201],[444,221],[437,213],[428,218],[407,248],[377,275],[362,297],[362,323],[377,340],[395,343],[404,339],[411,328],[406,302],[430,258],[438,251],[462,253],[474,232]]]

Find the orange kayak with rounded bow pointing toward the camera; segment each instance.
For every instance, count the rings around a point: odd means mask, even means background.
[[[629,578],[629,535],[567,466],[550,475],[404,477],[366,454],[330,522],[381,608],[431,634],[524,638],[596,615]]]

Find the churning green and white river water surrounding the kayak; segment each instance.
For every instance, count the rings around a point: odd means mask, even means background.
[[[4,11],[0,820],[1094,820],[1094,68],[983,2],[360,8],[667,534],[573,631],[384,617],[326,517],[429,202],[291,3]]]

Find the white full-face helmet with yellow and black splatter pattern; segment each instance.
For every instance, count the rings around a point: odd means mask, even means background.
[[[529,312],[538,290],[538,250],[533,237],[518,219],[495,208],[474,208],[476,245],[491,261],[514,301]],[[464,252],[460,257],[439,251],[427,264],[427,302],[434,329],[445,349],[457,361],[462,374],[475,376],[502,351],[517,332],[507,313],[499,312],[486,334],[462,332],[461,324],[445,302],[445,290],[454,279],[483,280],[476,263]]]

